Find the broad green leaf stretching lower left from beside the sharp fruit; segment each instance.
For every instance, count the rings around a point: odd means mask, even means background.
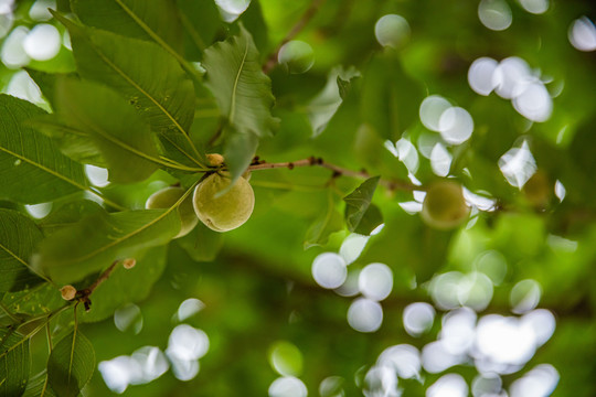
[[[169,210],[97,213],[52,234],[40,245],[33,266],[54,281],[70,283],[164,245],[180,230],[177,206]]]

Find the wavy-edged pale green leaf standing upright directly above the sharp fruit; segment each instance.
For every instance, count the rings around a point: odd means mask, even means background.
[[[205,50],[203,66],[206,69],[205,86],[211,89],[228,127],[224,152],[238,151],[249,142],[256,149],[256,137],[274,135],[277,119],[272,116],[275,98],[272,82],[263,72],[259,54],[251,33],[242,25],[240,35],[215,43]],[[234,147],[234,149],[228,149]],[[254,154],[244,150],[242,161],[234,164],[233,179],[238,178],[248,158]],[[226,160],[232,158],[226,157]],[[249,160],[248,160],[249,162]]]

